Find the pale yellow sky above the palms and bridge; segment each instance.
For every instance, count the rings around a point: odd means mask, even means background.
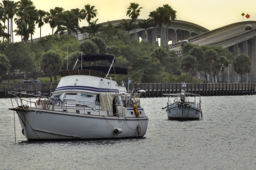
[[[14,0],[17,2],[18,0]],[[184,20],[203,26],[209,30],[231,23],[256,20],[255,0],[32,0],[37,9],[49,11],[56,6],[65,10],[84,8],[90,4],[98,10],[98,23],[108,20],[128,19],[126,11],[130,3],[143,7],[140,19],[147,19],[148,14],[163,4],[169,4],[177,11],[177,20]],[[250,19],[241,14],[250,14]],[[49,24],[48,24],[49,25]],[[87,26],[84,21],[80,26]],[[51,34],[49,26],[42,28],[42,36]],[[39,37],[39,30],[33,38]]]

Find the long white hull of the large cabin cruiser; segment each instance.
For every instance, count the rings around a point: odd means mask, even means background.
[[[36,108],[15,108],[29,141],[143,137],[148,117],[98,116]]]

